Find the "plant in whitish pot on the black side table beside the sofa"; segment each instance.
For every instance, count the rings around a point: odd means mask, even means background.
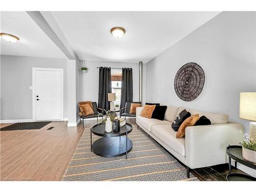
[[[243,158],[252,163],[256,163],[256,142],[249,138],[242,130],[244,140],[240,143],[242,145]]]

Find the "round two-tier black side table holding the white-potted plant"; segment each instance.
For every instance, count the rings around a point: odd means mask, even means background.
[[[234,178],[240,178],[242,181],[246,178],[248,178],[247,175],[245,174],[239,174],[239,173],[236,173],[236,174],[233,174],[231,173],[231,159],[233,159],[235,162],[234,162],[234,166],[237,168],[237,162],[247,166],[247,167],[250,167],[250,168],[253,168],[253,169],[256,169],[256,164],[254,163],[251,163],[249,161],[246,161],[244,158],[243,158],[243,155],[242,155],[242,146],[241,145],[229,145],[227,146],[227,149],[226,149],[226,153],[228,155],[228,168],[229,168],[229,174],[227,175],[227,180],[228,181],[231,181],[233,180]],[[249,176],[251,177],[251,176]],[[253,177],[252,177],[253,178]]]

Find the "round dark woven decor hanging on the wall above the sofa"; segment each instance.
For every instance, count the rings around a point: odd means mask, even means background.
[[[186,63],[175,76],[175,92],[183,101],[192,101],[202,92],[204,79],[204,71],[197,63]]]

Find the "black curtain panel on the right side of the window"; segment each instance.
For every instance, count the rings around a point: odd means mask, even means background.
[[[126,102],[133,102],[133,69],[122,68],[122,88],[120,108],[125,107]]]

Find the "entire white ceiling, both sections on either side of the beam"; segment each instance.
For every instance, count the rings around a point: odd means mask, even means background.
[[[220,12],[52,12],[81,60],[147,62]],[[122,38],[112,27],[126,30]],[[25,12],[1,12],[2,55],[67,58]]]

